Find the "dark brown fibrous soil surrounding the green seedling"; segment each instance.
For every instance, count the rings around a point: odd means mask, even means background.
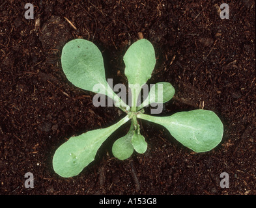
[[[0,3],[0,194],[256,194],[255,1],[26,1]],[[168,81],[175,98],[163,115],[213,110],[224,124],[221,144],[194,153],[160,125],[141,122],[149,144],[126,161],[111,154],[125,125],[76,177],[52,168],[55,150],[70,136],[107,127],[124,117],[115,107],[94,107],[94,94],[69,83],[61,49],[74,38],[96,44],[106,77],[127,84],[122,57],[147,38],[157,64],[149,83]],[[114,84],[115,84],[114,83]],[[149,112],[149,109],[147,109]],[[25,173],[34,188],[25,188]],[[229,174],[229,188],[220,174]]]

